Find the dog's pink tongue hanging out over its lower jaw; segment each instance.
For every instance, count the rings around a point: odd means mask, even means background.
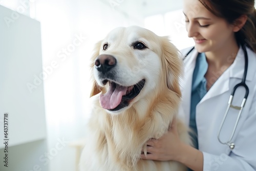
[[[99,96],[99,101],[104,109],[115,109],[121,102],[122,96],[125,95],[127,87],[117,85],[114,89],[110,87],[108,92]]]

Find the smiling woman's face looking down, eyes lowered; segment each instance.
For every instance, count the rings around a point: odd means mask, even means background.
[[[199,0],[184,0],[183,4],[188,37],[195,40],[198,52],[217,51],[236,41],[233,26],[208,11]]]

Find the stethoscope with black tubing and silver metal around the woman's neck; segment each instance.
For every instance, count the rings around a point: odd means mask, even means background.
[[[187,55],[189,55],[190,52],[192,52],[193,50],[195,49],[195,47],[191,48],[187,54],[184,56],[183,60],[187,57]],[[242,114],[242,111],[244,109],[244,105],[245,105],[245,101],[248,97],[248,94],[249,94],[249,88],[248,86],[246,85],[245,83],[245,80],[246,80],[246,75],[247,75],[247,69],[248,69],[248,55],[247,55],[247,51],[246,51],[246,48],[245,46],[242,46],[242,49],[244,51],[244,58],[245,58],[245,66],[244,66],[244,75],[243,75],[243,78],[242,78],[242,81],[240,83],[238,83],[236,86],[234,86],[232,92],[231,92],[231,95],[229,96],[229,100],[228,100],[228,105],[227,105],[227,109],[226,109],[226,112],[223,116],[223,119],[222,119],[222,122],[220,124],[220,128],[219,128],[219,131],[218,131],[218,140],[220,143],[222,144],[226,144],[229,146],[229,148],[232,150],[234,148],[234,143],[232,142],[232,139],[233,139],[233,136],[234,136],[234,133],[236,132],[236,129],[237,129],[237,125],[238,125],[238,122],[239,122],[239,119],[241,117],[241,114]],[[241,103],[240,106],[234,106],[232,105],[232,100],[233,100],[233,96],[234,96],[234,93],[236,92],[237,88],[238,87],[244,87],[245,88],[245,96],[244,96],[244,99]],[[229,137],[229,139],[227,141],[222,141],[220,139],[220,134],[221,134],[221,130],[222,130],[222,127],[223,127],[223,124],[226,120],[226,117],[227,117],[227,114],[228,114],[228,111],[230,108],[233,108],[233,109],[236,109],[236,110],[239,110],[239,113],[238,113],[238,116],[237,116],[237,120],[236,120],[236,123],[234,124],[234,127],[233,127],[233,130],[232,130],[232,133]]]

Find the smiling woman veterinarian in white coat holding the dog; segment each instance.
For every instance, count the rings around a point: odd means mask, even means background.
[[[183,4],[195,48],[182,50],[180,116],[195,133],[191,134],[195,147],[180,141],[174,121],[162,138],[147,142],[151,154],[141,158],[175,160],[191,170],[256,170],[254,0],[184,0]]]

